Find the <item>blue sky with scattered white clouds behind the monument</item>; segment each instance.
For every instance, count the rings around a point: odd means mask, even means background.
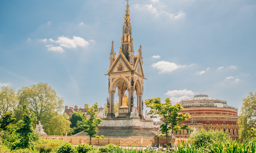
[[[125,0],[0,2],[0,86],[51,85],[64,105],[104,105]],[[143,99],[197,94],[241,107],[256,92],[255,0],[129,0]],[[177,90],[177,91],[176,91]],[[115,100],[117,100],[115,94]],[[144,109],[145,111],[145,109]]]

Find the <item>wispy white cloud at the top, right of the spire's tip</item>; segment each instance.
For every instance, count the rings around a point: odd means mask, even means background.
[[[158,1],[158,0],[153,0],[153,1]],[[181,19],[181,18],[186,16],[186,14],[184,12],[182,12],[182,11],[180,11],[178,13],[175,13],[175,14],[163,11],[162,9],[165,6],[160,6],[159,10],[157,10],[157,8],[153,6],[153,4],[143,5],[142,7],[139,4],[134,4],[133,7],[136,8],[136,9],[139,9],[139,10],[146,9],[151,14],[155,14],[155,16],[159,16],[161,14],[162,15],[166,15],[166,16],[170,17],[171,19],[174,19],[174,20]]]

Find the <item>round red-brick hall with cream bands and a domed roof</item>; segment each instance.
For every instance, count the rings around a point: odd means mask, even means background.
[[[233,139],[238,139],[238,109],[227,105],[226,101],[208,97],[208,95],[195,95],[193,98],[179,102],[184,109],[181,113],[190,114],[190,118],[180,125],[188,125],[196,130],[220,130],[226,132]],[[181,130],[174,134],[177,138],[190,136],[190,130]]]

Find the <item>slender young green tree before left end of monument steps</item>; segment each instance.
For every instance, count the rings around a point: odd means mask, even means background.
[[[98,108],[98,103],[94,104],[93,106],[89,107],[88,104],[84,105],[84,108],[87,109],[87,113],[90,114],[90,118],[87,118],[85,114],[83,114],[84,120],[83,123],[79,125],[80,128],[84,129],[84,132],[87,133],[86,135],[89,136],[90,138],[90,144],[91,145],[91,138],[103,138],[104,136],[97,136],[96,131],[98,130],[97,126],[102,122],[100,118],[95,118],[95,115],[97,111],[99,110]]]

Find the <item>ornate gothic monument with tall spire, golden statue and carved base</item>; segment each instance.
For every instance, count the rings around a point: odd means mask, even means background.
[[[101,117],[103,122],[98,129],[147,129],[154,130],[153,120],[150,116],[143,116],[143,80],[144,72],[142,68],[143,58],[141,46],[139,54],[134,55],[133,38],[131,33],[130,10],[127,1],[126,14],[124,18],[121,46],[116,56],[114,52],[114,42],[110,53],[110,67],[108,70],[108,90],[107,99],[108,113],[106,118]],[[114,97],[116,88],[118,89],[119,108],[114,114]],[[128,91],[128,94],[125,94]],[[136,97],[134,96],[136,91]],[[136,98],[136,99],[135,99]],[[137,102],[137,107],[135,103]]]

